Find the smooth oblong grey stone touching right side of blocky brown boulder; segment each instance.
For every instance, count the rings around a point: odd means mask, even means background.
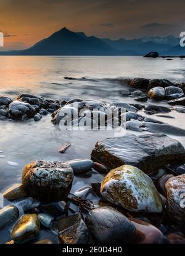
[[[67,161],[67,163],[70,164],[75,173],[88,172],[94,166],[94,162],[89,159],[75,159]]]

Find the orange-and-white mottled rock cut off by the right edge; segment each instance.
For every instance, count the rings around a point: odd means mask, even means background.
[[[167,190],[167,212],[171,220],[184,229],[185,214],[185,174],[169,179],[165,185]]]

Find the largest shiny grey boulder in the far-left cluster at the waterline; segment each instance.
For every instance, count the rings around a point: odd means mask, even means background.
[[[9,105],[10,117],[17,120],[25,118],[33,118],[35,115],[35,108],[28,103],[15,101]]]

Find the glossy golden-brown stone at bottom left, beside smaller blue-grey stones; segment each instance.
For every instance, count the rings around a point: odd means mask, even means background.
[[[36,214],[23,215],[12,229],[11,237],[17,244],[33,240],[40,229],[39,218]]]

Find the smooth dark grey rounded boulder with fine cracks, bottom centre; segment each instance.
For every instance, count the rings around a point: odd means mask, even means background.
[[[90,211],[85,223],[97,244],[126,244],[132,241],[136,231],[125,215],[109,206]]]

